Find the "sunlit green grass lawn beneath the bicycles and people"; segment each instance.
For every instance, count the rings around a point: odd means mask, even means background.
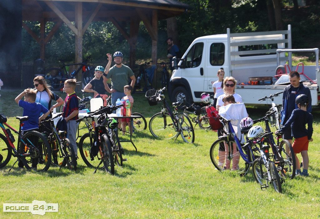
[[[0,113],[14,128],[18,128],[15,116],[22,115],[14,102],[19,93],[1,91]],[[147,121],[160,111],[159,106],[148,105],[144,93],[136,93],[133,98],[133,111],[142,113]],[[247,109],[249,116],[259,118],[268,107]],[[283,194],[271,187],[261,191],[251,170],[244,177],[215,170],[209,150],[217,134],[196,126],[194,144],[184,143],[181,137],[176,141],[156,140],[148,128],[135,132],[133,141],[138,152],[131,143],[123,143],[124,158],[128,160],[123,167],[115,167],[115,175],[102,170],[93,174],[94,169],[81,158],[76,172],[50,167],[48,172],[35,173],[19,171],[17,165],[8,172],[15,161],[12,157],[0,170],[0,202],[32,203],[35,199],[58,203],[59,212],[45,214],[52,218],[319,218],[319,112],[314,111],[313,116],[314,142],[310,142],[308,152],[310,177],[286,180]],[[1,218],[29,215],[0,212]]]

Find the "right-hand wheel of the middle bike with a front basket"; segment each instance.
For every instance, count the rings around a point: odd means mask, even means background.
[[[195,131],[192,123],[185,113],[180,113],[178,118],[178,126],[183,141],[187,143],[195,142]]]

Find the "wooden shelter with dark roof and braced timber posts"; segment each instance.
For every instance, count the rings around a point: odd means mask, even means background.
[[[190,9],[175,0],[22,0],[22,20],[40,21],[40,36],[22,22],[22,27],[40,44],[41,59],[45,59],[45,44],[65,23],[76,36],[75,61],[82,61],[82,37],[91,22],[111,21],[130,45],[130,66],[135,62],[135,50],[140,21],[152,39],[152,61],[157,60],[158,20],[174,17]],[[45,23],[55,26],[45,36]],[[74,24],[72,21],[75,21]],[[124,24],[130,22],[130,32]]]

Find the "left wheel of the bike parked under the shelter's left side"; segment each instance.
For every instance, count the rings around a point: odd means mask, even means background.
[[[45,72],[44,79],[47,84],[52,87],[52,90],[60,90],[66,80],[65,73],[58,68],[52,68]]]

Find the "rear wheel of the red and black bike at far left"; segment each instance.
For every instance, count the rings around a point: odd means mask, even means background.
[[[37,131],[29,131],[22,136],[19,152],[27,169],[36,168],[37,172],[47,171],[51,165],[51,147],[47,139]]]

